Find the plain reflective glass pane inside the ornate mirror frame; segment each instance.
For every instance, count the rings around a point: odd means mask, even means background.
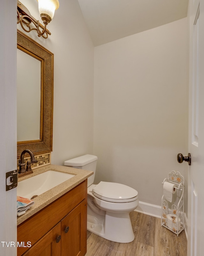
[[[17,141],[40,140],[41,62],[17,49]]]

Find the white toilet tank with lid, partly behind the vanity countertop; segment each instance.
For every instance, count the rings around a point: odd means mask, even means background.
[[[91,184],[93,184],[93,181],[94,181],[97,159],[98,159],[97,156],[84,155],[84,156],[79,156],[79,157],[72,158],[70,160],[64,161],[64,165],[69,166],[69,167],[73,167],[73,168],[92,171],[93,175],[91,175],[88,178],[88,185],[87,186],[89,187]]]

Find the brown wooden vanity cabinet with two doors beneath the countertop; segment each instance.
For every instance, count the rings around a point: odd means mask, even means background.
[[[87,180],[18,225],[17,255],[84,256],[86,235]]]

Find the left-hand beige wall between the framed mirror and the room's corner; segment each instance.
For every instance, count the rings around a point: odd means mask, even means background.
[[[22,0],[40,19],[37,1]],[[19,27],[18,27],[19,28]],[[51,36],[26,33],[54,53],[54,120],[51,163],[93,152],[94,47],[77,0],[60,1],[47,29]]]

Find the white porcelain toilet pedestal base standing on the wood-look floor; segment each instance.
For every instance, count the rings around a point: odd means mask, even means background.
[[[87,230],[107,240],[130,243],[135,239],[129,213],[106,212],[99,215],[88,207]]]

